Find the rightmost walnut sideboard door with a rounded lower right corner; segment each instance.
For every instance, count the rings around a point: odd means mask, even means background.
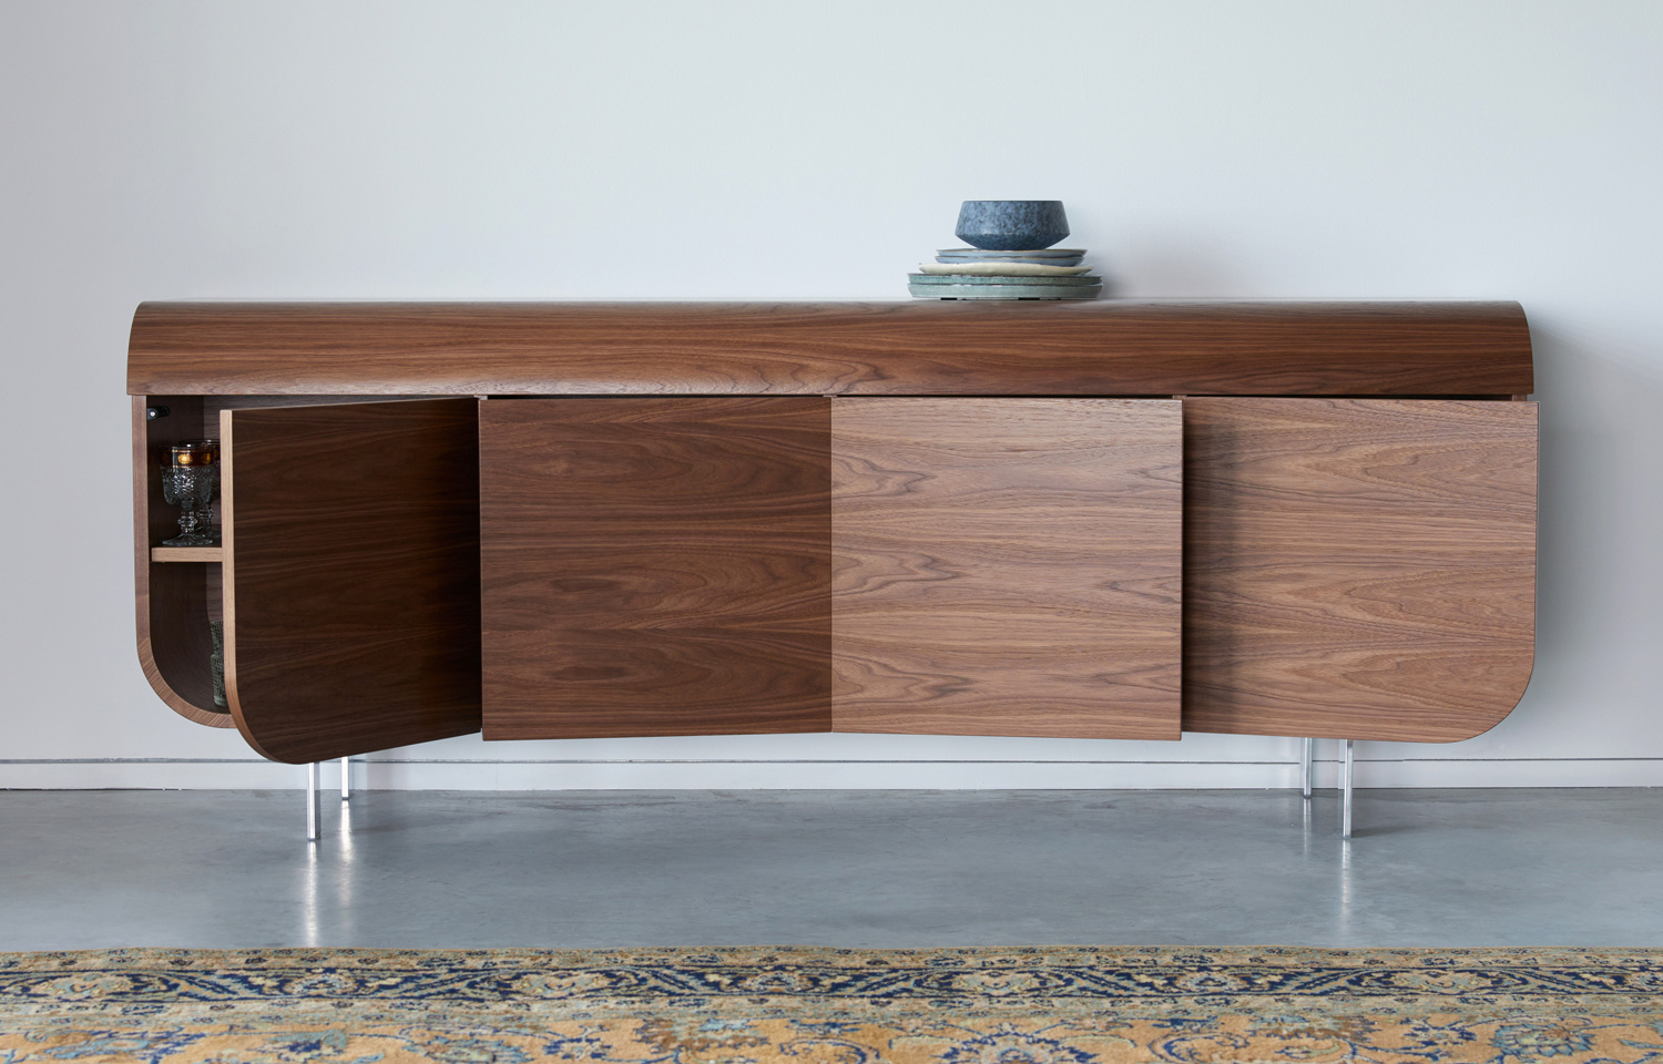
[[[1533,402],[1184,402],[1184,728],[1455,741],[1535,642]]]

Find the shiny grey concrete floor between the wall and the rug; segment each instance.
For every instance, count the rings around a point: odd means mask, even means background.
[[[1663,790],[0,793],[0,949],[1663,946]]]

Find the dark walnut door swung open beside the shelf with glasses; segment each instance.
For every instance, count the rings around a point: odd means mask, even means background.
[[[479,730],[476,411],[221,412],[226,697],[264,756]]]

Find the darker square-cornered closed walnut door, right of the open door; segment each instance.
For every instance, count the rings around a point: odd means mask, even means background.
[[[486,738],[830,730],[828,407],[482,402]]]

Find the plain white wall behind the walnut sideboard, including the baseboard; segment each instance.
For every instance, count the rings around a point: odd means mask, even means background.
[[[965,198],[1128,296],[1518,299],[1537,675],[1360,785],[1663,783],[1663,5],[0,5],[0,786],[271,786],[133,652],[141,299],[898,299]],[[1332,753],[1332,743],[1325,745]],[[379,786],[1285,786],[1285,740],[382,755]]]

